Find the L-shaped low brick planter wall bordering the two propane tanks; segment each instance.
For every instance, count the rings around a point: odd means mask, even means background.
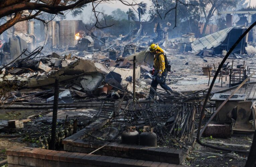
[[[87,142],[83,140],[86,134],[91,134],[93,131],[101,129],[109,119],[98,119],[84,129],[78,131],[76,134],[65,138],[62,141],[64,150],[69,152],[90,153],[100,147],[98,151],[94,152],[97,155],[111,155],[119,158],[133,158],[140,160],[151,160],[156,162],[165,162],[171,164],[181,164],[184,155],[181,150],[170,149],[167,147],[149,147],[141,145],[130,145],[122,143],[113,143],[105,141]]]

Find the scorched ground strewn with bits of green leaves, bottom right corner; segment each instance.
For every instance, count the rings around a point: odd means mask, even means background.
[[[237,150],[250,150],[252,144],[252,135],[233,135],[232,138],[220,139],[220,138],[201,138],[202,142],[208,143],[214,146],[219,146],[229,149]],[[238,145],[248,145],[244,146],[225,146],[222,144],[213,144],[209,142],[223,142],[227,144],[238,144]],[[213,153],[213,154],[211,154]],[[216,154],[214,154],[216,153]],[[196,143],[193,150],[185,159],[186,165],[191,166],[207,166],[207,167],[220,167],[220,166],[232,166],[232,167],[244,167],[246,163],[246,158],[249,153],[238,153],[238,152],[226,152],[216,149],[211,149],[203,147]],[[224,156],[224,157],[223,157]]]

